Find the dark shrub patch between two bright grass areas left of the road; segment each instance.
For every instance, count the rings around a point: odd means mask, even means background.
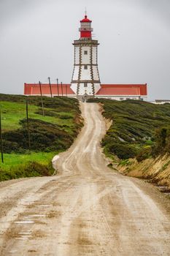
[[[26,119],[20,121],[22,128],[16,131],[4,132],[4,153],[23,153],[28,149],[28,132]],[[50,124],[37,119],[29,119],[31,150],[50,151],[66,150],[72,145],[74,138],[56,124]],[[73,131],[76,136],[78,132]]]

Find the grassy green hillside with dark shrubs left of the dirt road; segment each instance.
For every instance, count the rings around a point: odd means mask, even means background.
[[[26,99],[31,150],[28,151]],[[9,178],[48,176],[54,170],[51,159],[72,145],[82,127],[79,102],[66,97],[40,97],[0,94],[4,163],[0,181]]]

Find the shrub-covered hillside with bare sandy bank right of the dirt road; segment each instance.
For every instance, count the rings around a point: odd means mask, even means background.
[[[112,120],[101,142],[107,157],[119,163],[125,175],[150,178],[170,188],[170,105],[94,101],[102,105],[103,116]]]

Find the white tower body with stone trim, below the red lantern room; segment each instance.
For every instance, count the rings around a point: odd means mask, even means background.
[[[74,71],[71,88],[77,95],[94,96],[100,89],[97,46],[98,42],[93,40],[88,43],[77,40],[76,44],[74,43]]]

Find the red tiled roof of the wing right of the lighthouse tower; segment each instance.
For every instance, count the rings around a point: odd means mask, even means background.
[[[96,95],[142,95],[147,96],[147,84],[101,84]]]

